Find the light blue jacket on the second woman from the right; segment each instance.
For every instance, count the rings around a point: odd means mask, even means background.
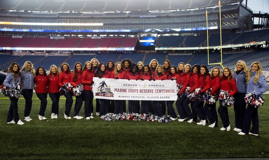
[[[232,73],[233,79],[236,81],[236,88],[238,93],[246,93],[246,74],[243,70],[237,75],[235,71]]]

